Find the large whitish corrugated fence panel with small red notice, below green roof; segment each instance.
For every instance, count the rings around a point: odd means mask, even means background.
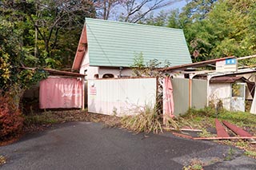
[[[88,81],[88,112],[133,114],[156,101],[156,78],[98,79]]]

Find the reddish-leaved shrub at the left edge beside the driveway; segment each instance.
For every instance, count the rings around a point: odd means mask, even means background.
[[[7,95],[0,96],[0,140],[10,140],[22,131],[22,113],[12,101]]]

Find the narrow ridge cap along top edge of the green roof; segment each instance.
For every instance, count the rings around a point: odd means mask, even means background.
[[[146,24],[138,24],[138,23],[130,23],[130,22],[118,22],[118,21],[112,21],[112,20],[104,20],[104,19],[98,19],[98,18],[86,18],[86,20],[92,20],[92,21],[98,21],[98,22],[112,22],[112,23],[118,23],[118,24],[123,24],[123,25],[131,25],[131,26],[147,26],[151,28],[158,28],[158,29],[163,29],[163,30],[175,30],[175,31],[182,31],[182,29],[177,29],[177,28],[170,28],[166,26],[151,26],[151,25],[146,25]],[[85,22],[86,23],[86,22]]]

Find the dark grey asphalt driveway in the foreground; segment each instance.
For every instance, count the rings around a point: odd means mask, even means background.
[[[30,133],[0,147],[6,169],[182,169],[201,160],[204,169],[256,169],[242,151],[210,141],[172,136],[134,135],[99,123],[72,122]]]

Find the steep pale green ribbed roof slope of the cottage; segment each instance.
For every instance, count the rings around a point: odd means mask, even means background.
[[[142,53],[144,61],[171,65],[191,63],[183,31],[160,26],[86,18],[90,65],[130,66]]]

